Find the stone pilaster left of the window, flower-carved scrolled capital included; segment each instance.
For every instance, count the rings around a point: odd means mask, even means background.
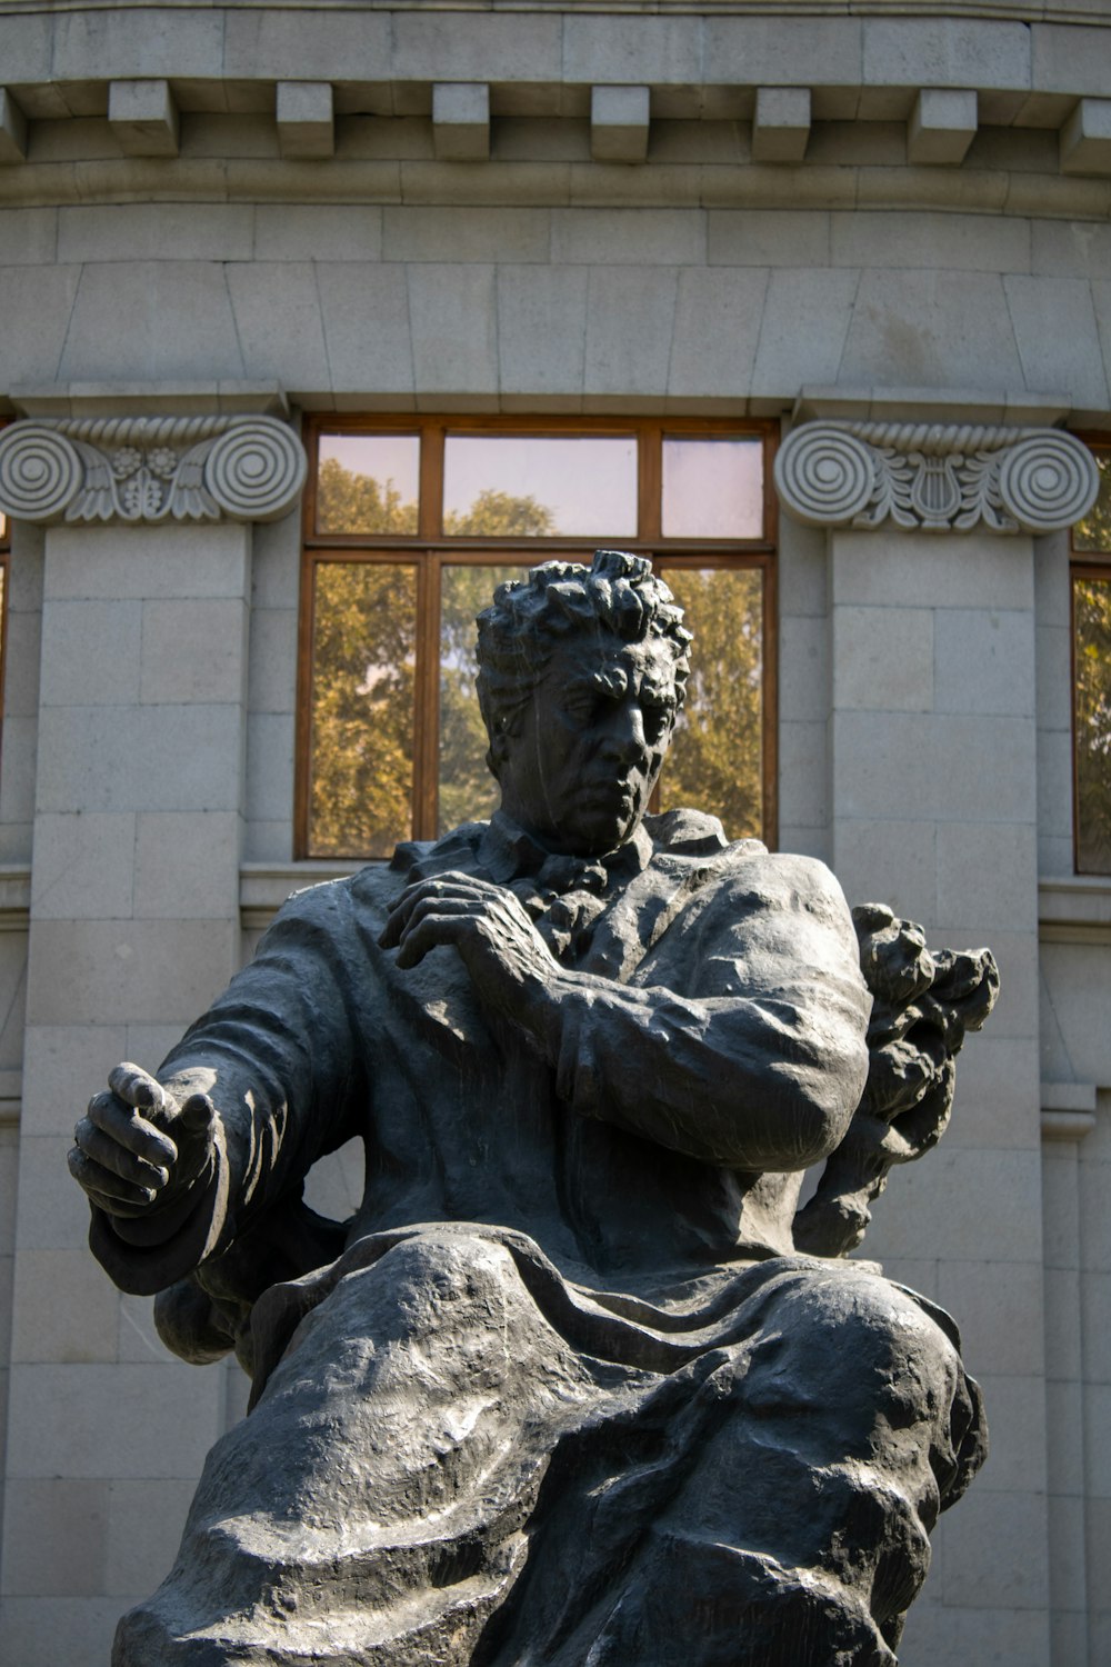
[[[303,478],[270,417],[0,442],[0,505],[47,527],[5,1594],[77,1594],[103,1659],[168,1567],[225,1375],[172,1362],[95,1265],[65,1155],[112,1064],[157,1067],[238,965],[252,522]]]

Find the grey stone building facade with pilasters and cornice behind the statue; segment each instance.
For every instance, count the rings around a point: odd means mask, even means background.
[[[0,0],[3,1660],[107,1660],[242,1414],[93,1264],[65,1152],[345,867],[298,855],[301,435],[356,418],[780,442],[768,834],[1003,975],[868,1239],[993,1429],[901,1659],[1111,1659],[1068,530],[1111,443],[1109,88],[1108,0]]]

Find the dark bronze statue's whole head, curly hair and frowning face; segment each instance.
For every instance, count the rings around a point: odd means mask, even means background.
[[[686,692],[691,633],[651,563],[596,550],[500,585],[478,615],[478,702],[503,808],[598,855],[640,823]]]

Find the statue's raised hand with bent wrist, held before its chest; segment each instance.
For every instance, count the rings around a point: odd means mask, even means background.
[[[406,887],[381,934],[383,949],[398,950],[398,967],[415,967],[440,944],[453,944],[478,994],[510,1012],[560,970],[513,892],[470,874]]]

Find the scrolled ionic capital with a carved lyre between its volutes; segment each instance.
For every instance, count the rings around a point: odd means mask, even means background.
[[[1091,452],[1059,428],[808,422],[780,447],[783,507],[810,527],[1058,532],[1099,490]]]

